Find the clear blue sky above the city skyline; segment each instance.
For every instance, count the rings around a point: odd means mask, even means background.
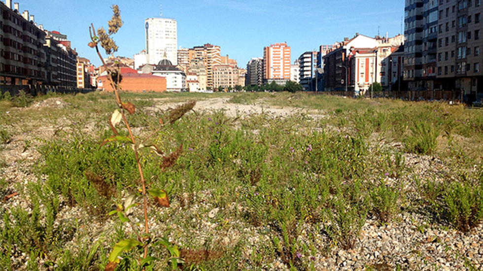
[[[114,35],[116,55],[132,58],[144,49],[144,20],[159,17],[162,4],[163,17],[177,21],[178,47],[218,45],[222,55],[236,59],[242,68],[250,58],[262,57],[263,47],[276,42],[292,48],[293,63],[305,51],[355,33],[395,36],[401,33],[404,16],[404,0],[14,1],[20,3],[20,13],[29,10],[45,29],[67,34],[79,56],[96,66],[100,60],[87,46],[89,26],[107,28],[113,3],[119,5],[124,22]]]

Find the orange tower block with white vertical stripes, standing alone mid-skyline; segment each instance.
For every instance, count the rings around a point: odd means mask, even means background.
[[[263,79],[277,83],[290,79],[290,47],[275,43],[263,48]]]

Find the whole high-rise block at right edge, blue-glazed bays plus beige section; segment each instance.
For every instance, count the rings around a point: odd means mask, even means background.
[[[482,13],[481,0],[406,0],[409,90],[456,90],[468,102],[483,93]]]

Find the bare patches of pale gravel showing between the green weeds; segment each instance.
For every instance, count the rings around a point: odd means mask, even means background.
[[[63,102],[60,98],[51,98],[32,106],[64,107],[69,106],[69,104]],[[165,102],[159,102],[156,105],[159,109],[166,109],[170,106],[172,107],[173,104]],[[222,98],[199,102],[195,109],[224,109],[231,116],[236,116],[237,114],[260,113],[262,107],[263,110],[269,110],[277,115],[291,114],[301,110],[268,108],[260,104],[229,104],[226,99]],[[305,112],[307,113],[307,111]],[[322,114],[321,112],[309,113]],[[35,166],[40,155],[35,150],[35,146],[39,144],[39,141],[35,139],[48,139],[54,131],[54,127],[39,126],[34,131],[14,135],[8,144],[0,148],[0,157],[4,162],[4,167],[0,169],[0,173],[9,184],[8,188],[2,191],[0,195],[2,208],[9,209],[21,206],[30,210],[29,199],[16,195],[16,192],[25,187],[28,182],[36,179],[32,173],[32,167]],[[26,140],[31,142],[31,146],[26,147]],[[382,142],[380,144],[397,143]],[[430,156],[405,154],[405,163],[409,173],[397,179],[387,176],[387,183],[403,183],[405,190],[415,191],[415,184],[412,181],[414,175],[421,178],[431,177],[436,181],[444,181],[454,175],[444,161]],[[251,227],[239,221],[220,221],[220,219],[217,219],[221,217],[222,213],[231,211],[230,209],[242,207],[231,205],[225,210],[215,208],[207,201],[203,201],[204,198],[210,197],[209,194],[209,191],[197,193],[194,200],[195,204],[192,204],[188,210],[180,206],[180,201],[183,199],[173,199],[171,208],[158,210],[160,215],[182,210],[186,217],[194,217],[191,222],[197,227],[186,234],[185,239],[177,240],[180,246],[183,243],[193,244],[196,242],[196,240],[190,240],[191,237],[204,240],[206,236],[214,236],[213,242],[219,241],[226,246],[234,245],[240,238],[247,238],[247,245],[253,247],[261,246],[271,240],[271,235],[274,233],[267,230],[266,227]],[[408,200],[413,199],[409,198]],[[63,205],[57,219],[60,223],[63,220],[82,217],[81,212],[81,209]],[[397,266],[402,270],[483,270],[483,227],[481,225],[468,234],[462,234],[453,230],[449,225],[433,224],[427,215],[421,214],[423,212],[424,210],[405,210],[393,222],[382,226],[378,221],[368,219],[355,248],[351,250],[339,248],[337,243],[329,240],[326,235],[321,234],[311,225],[304,225],[298,238],[303,242],[310,239],[315,244],[318,253],[316,256],[310,257],[301,254],[300,259],[302,262],[312,262],[315,270],[321,271],[365,270],[368,266],[372,266],[375,270],[394,270]],[[201,215],[195,216],[192,214]],[[2,223],[1,220],[0,223]],[[112,229],[112,223],[109,220],[102,222],[80,221],[80,224],[85,225],[84,231],[98,233]],[[170,221],[166,222],[166,224],[169,223]],[[225,226],[220,230],[219,226],[222,223]],[[162,233],[166,224],[157,223],[156,218],[152,217],[150,221],[151,231]],[[176,232],[176,225],[172,226],[172,230]],[[75,241],[77,240],[72,240],[72,242]],[[249,247],[245,250],[247,259],[253,251]],[[13,260],[15,262],[26,262],[28,257],[29,255],[16,255]],[[250,267],[247,263],[240,263],[240,268],[248,269]],[[280,258],[261,268],[263,270],[289,269]]]

